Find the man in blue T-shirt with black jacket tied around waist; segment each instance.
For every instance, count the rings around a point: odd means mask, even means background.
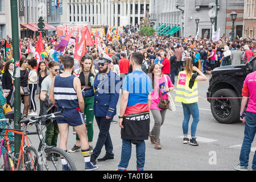
[[[133,72],[123,81],[123,95],[119,113],[121,127],[122,154],[117,170],[126,170],[131,155],[131,143],[136,145],[137,169],[142,171],[145,163],[146,146],[150,131],[150,92],[152,82],[141,69],[143,55],[135,52],[131,55],[130,65]]]

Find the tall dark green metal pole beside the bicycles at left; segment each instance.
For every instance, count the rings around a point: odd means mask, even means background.
[[[14,64],[14,129],[20,130],[20,69],[19,69],[19,19],[17,0],[11,0],[11,32],[13,35],[13,64]],[[21,136],[14,134],[14,151],[19,153]]]

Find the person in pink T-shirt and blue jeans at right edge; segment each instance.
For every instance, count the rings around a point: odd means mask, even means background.
[[[243,82],[242,89],[242,102],[240,110],[240,120],[245,123],[245,136],[243,138],[243,144],[240,152],[240,164],[238,164],[234,169],[238,171],[247,171],[247,166],[249,162],[249,154],[251,151],[251,143],[256,132],[256,71],[250,73],[246,76]],[[245,106],[249,97],[249,102],[246,109],[246,118],[243,113],[245,113]],[[256,152],[254,153],[253,165],[251,166],[253,170],[256,170]]]

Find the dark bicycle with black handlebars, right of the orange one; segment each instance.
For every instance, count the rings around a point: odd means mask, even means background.
[[[42,124],[42,122],[46,121],[47,119],[52,120],[53,118],[56,118],[56,117],[63,117],[62,115],[58,115],[58,114],[62,114],[63,110],[64,108],[61,111],[56,113],[41,115],[39,117],[31,117],[27,119],[23,119],[24,115],[22,115],[22,117],[19,119],[19,123],[24,123],[26,125],[24,129],[25,131],[27,131],[28,125],[35,125],[36,132],[27,132],[27,135],[38,135],[40,140],[38,152],[40,155],[40,160],[43,166],[46,167],[47,171],[53,171],[53,170],[59,171],[62,169],[63,166],[61,163],[60,156],[62,156],[63,159],[67,162],[69,169],[71,171],[77,171],[75,163],[73,162],[71,156],[67,152],[65,152],[59,147],[47,146],[47,144],[44,142],[42,130],[39,128],[39,124]]]

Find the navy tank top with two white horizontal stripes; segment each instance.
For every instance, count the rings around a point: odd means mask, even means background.
[[[57,75],[54,82],[54,99],[59,107],[65,109],[75,109],[79,107],[76,90],[74,89],[73,81],[75,76],[60,77]]]

